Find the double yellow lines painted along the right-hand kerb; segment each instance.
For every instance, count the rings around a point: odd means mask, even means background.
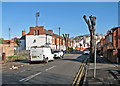
[[[77,75],[72,83],[72,86],[75,86],[75,83],[76,83],[76,86],[79,85],[84,68],[85,68],[85,63],[82,63],[82,65],[81,65],[81,67],[80,67],[80,69],[79,69],[79,71],[78,71],[78,73],[77,73]]]

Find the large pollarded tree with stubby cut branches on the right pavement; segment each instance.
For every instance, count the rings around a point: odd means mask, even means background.
[[[89,19],[86,19],[86,15],[83,16],[85,22],[88,25],[89,31],[90,31],[90,61],[94,62],[94,53],[95,53],[95,20],[96,17],[95,16],[89,16]],[[91,22],[91,24],[90,24]]]

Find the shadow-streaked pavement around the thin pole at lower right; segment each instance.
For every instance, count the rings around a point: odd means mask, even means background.
[[[104,57],[97,57],[96,77],[93,78],[94,64],[88,63],[84,86],[120,86],[120,64],[112,64]]]

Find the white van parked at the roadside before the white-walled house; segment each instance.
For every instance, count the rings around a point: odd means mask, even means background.
[[[54,54],[50,47],[32,46],[30,49],[30,61],[44,61],[48,63],[49,60],[54,60]]]

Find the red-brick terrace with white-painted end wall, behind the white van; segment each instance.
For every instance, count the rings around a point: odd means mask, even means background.
[[[53,33],[53,30],[46,30],[44,26],[30,27],[30,32],[26,34],[26,31],[22,31],[22,37],[20,38],[20,49],[30,50],[31,46],[48,45],[52,49],[66,50],[65,39],[62,36]],[[70,40],[69,40],[70,41]],[[70,43],[70,42],[69,42]]]

